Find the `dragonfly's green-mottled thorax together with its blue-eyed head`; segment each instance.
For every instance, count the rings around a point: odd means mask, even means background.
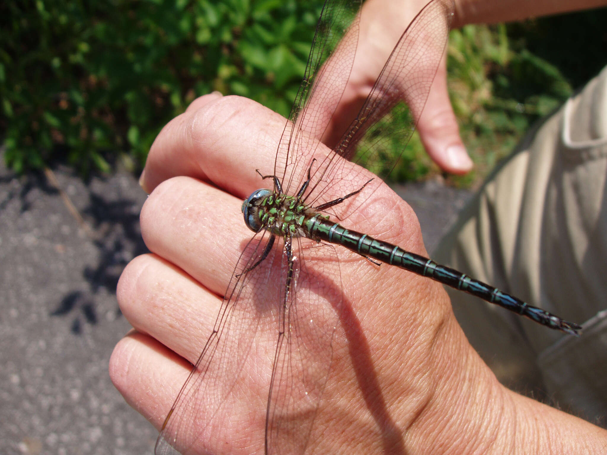
[[[266,229],[275,235],[305,236],[302,224],[307,209],[296,197],[276,194],[266,188],[255,190],[242,203],[245,224],[251,231]]]

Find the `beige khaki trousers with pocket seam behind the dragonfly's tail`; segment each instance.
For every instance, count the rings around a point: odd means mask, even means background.
[[[434,255],[571,322],[564,335],[451,291],[470,343],[507,386],[605,426],[607,68],[530,132]]]

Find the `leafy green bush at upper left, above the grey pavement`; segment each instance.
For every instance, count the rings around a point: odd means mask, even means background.
[[[17,172],[143,164],[161,127],[219,90],[287,115],[322,1],[36,0],[0,6],[0,127]]]

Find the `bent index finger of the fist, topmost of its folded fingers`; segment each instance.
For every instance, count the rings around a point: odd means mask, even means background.
[[[284,126],[283,116],[250,99],[201,96],[158,134],[141,187],[149,194],[164,180],[187,176],[245,198],[259,187],[254,169],[273,169]]]

